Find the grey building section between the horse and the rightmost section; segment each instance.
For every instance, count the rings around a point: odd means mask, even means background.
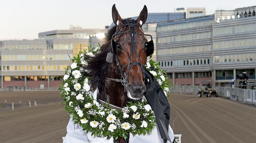
[[[157,60],[173,83],[198,85],[211,80],[213,21],[210,15],[158,23]]]

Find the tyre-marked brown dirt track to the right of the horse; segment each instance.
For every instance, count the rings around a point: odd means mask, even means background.
[[[254,143],[256,108],[224,98],[171,94],[170,125],[182,143]]]

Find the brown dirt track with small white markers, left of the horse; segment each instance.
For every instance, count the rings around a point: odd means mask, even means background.
[[[0,104],[5,106],[0,109],[0,142],[61,143],[69,120],[60,105],[62,101],[59,92],[0,92]],[[14,111],[11,110],[12,102]]]

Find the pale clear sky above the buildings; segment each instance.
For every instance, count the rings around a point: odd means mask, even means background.
[[[101,28],[112,23],[111,9],[121,17],[138,16],[144,5],[148,13],[174,12],[175,8],[235,9],[256,5],[255,0],[0,0],[0,40],[38,39],[39,32]]]

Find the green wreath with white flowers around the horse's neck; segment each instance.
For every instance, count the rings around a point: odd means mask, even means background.
[[[95,137],[127,139],[128,132],[135,134],[151,133],[156,126],[154,112],[145,98],[127,102],[122,110],[110,109],[99,104],[92,96],[90,88],[91,77],[82,76],[82,66],[87,66],[90,56],[99,52],[99,47],[89,47],[87,52],[80,52],[77,57],[70,58],[72,65],[67,66],[59,90],[63,98],[64,108],[73,116],[73,121],[79,124],[87,133]],[[164,90],[165,95],[171,87],[164,70],[159,69],[159,63],[151,57],[147,60],[146,69],[154,75]]]

